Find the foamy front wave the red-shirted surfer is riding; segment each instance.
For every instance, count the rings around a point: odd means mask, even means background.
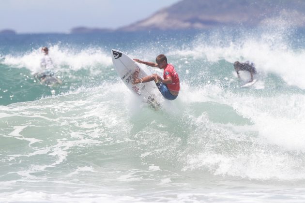
[[[18,123],[2,125],[1,139],[14,139],[11,143],[26,151],[13,150],[11,159],[2,160],[46,156],[22,172],[34,178],[49,167],[65,167],[77,151],[88,153],[90,148],[98,161],[94,151],[103,148],[112,154],[113,147],[119,147],[122,159],[126,158],[122,151],[128,152],[138,156],[138,164],[154,164],[160,171],[173,165],[185,173],[298,181],[305,178],[301,172],[305,166],[300,165],[305,144],[305,125],[299,120],[305,113],[303,100],[303,95],[249,96],[218,86],[189,89],[185,85],[176,101],[164,101],[155,111],[120,81],[81,87],[56,97],[2,106],[1,123],[12,119]],[[97,164],[95,158],[90,165]]]

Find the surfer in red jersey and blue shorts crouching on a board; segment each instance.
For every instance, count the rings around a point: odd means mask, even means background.
[[[140,70],[137,68],[136,72],[133,75],[133,84],[147,83],[153,80],[165,99],[174,100],[178,97],[180,90],[179,76],[174,66],[168,64],[168,59],[164,54],[160,54],[157,56],[156,63],[142,61],[137,58],[134,58],[133,60],[151,67],[158,67],[159,69],[164,69],[162,79],[158,74],[152,74],[146,77],[138,78]]]

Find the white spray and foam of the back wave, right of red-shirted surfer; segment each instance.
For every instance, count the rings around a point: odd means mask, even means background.
[[[274,73],[280,76],[288,85],[297,86],[305,89],[305,48],[293,49],[286,35],[290,34],[283,28],[278,30],[265,30],[259,36],[242,36],[237,41],[229,41],[219,44],[226,40],[226,33],[215,36],[198,36],[193,44],[183,49],[175,49],[168,52],[170,56],[188,57],[191,60],[207,59],[210,62],[226,60],[230,63],[234,61],[251,61],[256,65],[259,73]],[[285,32],[286,31],[286,32]],[[212,34],[211,34],[212,35]],[[231,40],[231,39],[229,39]],[[293,40],[293,39],[290,39]],[[184,66],[183,66],[184,67]],[[231,67],[233,69],[233,66]],[[263,88],[262,85],[258,88]]]

